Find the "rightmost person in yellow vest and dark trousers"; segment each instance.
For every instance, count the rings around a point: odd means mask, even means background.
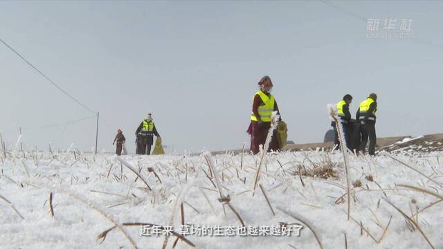
[[[375,133],[375,122],[377,117],[377,94],[371,93],[366,100],[360,103],[359,110],[356,113],[356,120],[360,122],[357,136],[361,136],[359,145],[356,145],[356,152],[362,151],[365,154],[366,144],[369,138],[369,154],[374,156],[375,145],[377,145],[377,135]]]

